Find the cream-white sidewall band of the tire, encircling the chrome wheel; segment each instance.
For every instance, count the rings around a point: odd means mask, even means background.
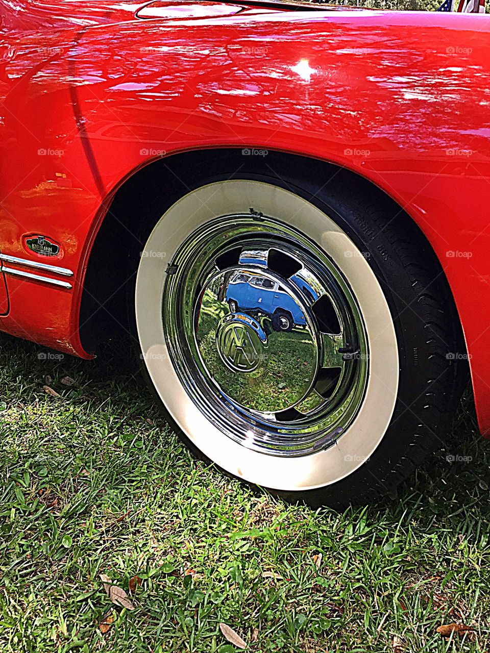
[[[166,269],[182,243],[216,217],[250,215],[250,207],[255,214],[290,225],[327,252],[348,280],[363,317],[370,353],[363,402],[335,445],[314,453],[289,457],[265,454],[225,435],[189,396],[165,336],[161,307]],[[385,434],[395,406],[399,374],[397,341],[376,276],[359,249],[332,219],[310,202],[274,185],[242,180],[216,182],[176,202],[155,225],[145,252],[138,270],[135,298],[145,364],[173,419],[206,456],[253,483],[281,490],[306,490],[342,479],[372,454]],[[223,421],[228,417],[222,415]]]

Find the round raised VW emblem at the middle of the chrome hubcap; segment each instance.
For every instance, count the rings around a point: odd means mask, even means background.
[[[240,321],[221,324],[216,345],[221,360],[233,372],[252,372],[261,361],[258,334]]]

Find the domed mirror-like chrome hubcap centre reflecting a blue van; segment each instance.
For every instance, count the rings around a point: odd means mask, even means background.
[[[248,410],[289,409],[316,379],[319,339],[306,302],[292,283],[259,266],[207,280],[195,306],[195,339],[210,379]]]

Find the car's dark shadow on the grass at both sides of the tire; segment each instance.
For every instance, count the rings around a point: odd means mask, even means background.
[[[132,413],[159,415],[139,372],[139,361],[128,340],[106,344],[93,360],[63,355],[41,345],[1,334],[0,404],[39,402],[43,385],[63,393],[63,377],[77,379],[69,389],[71,402],[104,401],[110,396],[114,413],[121,418]],[[4,406],[5,406],[4,404]],[[1,413],[0,413],[1,417]],[[161,420],[162,426],[165,422]],[[400,486],[397,496],[370,507],[371,517],[383,513],[392,518],[416,515],[417,520],[452,524],[461,535],[475,532],[490,517],[490,440],[482,438],[470,390],[461,400],[452,428],[451,443],[441,446],[428,470],[417,470]],[[220,474],[219,470],[214,473]],[[253,492],[260,494],[260,488]],[[353,513],[362,509],[359,507]],[[328,510],[328,509],[326,509]],[[321,509],[320,509],[321,511]],[[480,525],[478,525],[480,524]]]

